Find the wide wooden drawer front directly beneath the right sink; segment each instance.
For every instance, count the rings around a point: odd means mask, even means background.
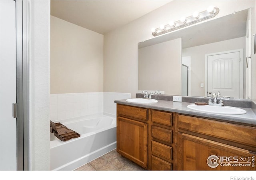
[[[256,128],[250,126],[178,115],[178,128],[256,146]]]

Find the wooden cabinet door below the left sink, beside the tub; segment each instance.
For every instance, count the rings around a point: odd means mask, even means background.
[[[148,124],[118,117],[117,152],[148,168]]]

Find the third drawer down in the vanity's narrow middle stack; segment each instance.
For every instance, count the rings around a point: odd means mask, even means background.
[[[152,154],[172,160],[172,147],[166,146],[156,141],[152,141]]]

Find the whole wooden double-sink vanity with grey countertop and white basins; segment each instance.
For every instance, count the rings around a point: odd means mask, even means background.
[[[256,104],[141,94],[117,104],[117,152],[146,170],[256,170]]]

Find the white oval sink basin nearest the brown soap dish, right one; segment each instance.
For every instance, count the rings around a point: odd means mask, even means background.
[[[215,114],[228,114],[228,115],[236,115],[236,114],[245,114],[246,110],[235,108],[231,106],[198,106],[196,104],[190,104],[187,106],[189,109],[197,110],[200,112],[207,113],[215,113]]]

